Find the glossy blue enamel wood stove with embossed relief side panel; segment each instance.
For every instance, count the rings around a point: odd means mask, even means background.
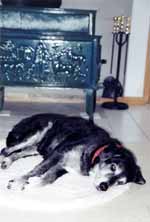
[[[0,7],[0,108],[5,86],[84,89],[93,118],[101,67],[93,10]]]

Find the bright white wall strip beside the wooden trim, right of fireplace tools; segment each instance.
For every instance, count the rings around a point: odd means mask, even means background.
[[[150,0],[134,0],[125,96],[143,96],[149,25]]]

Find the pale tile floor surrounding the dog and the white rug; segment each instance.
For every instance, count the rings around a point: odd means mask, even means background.
[[[0,115],[0,138],[6,137],[9,129],[20,119],[39,112],[67,113],[79,115],[84,111],[78,104],[33,104],[6,103],[5,110],[11,116]],[[150,105],[133,106],[127,111],[109,111],[97,106],[100,115],[98,124],[113,136],[122,140],[137,156],[147,180],[145,186],[132,185],[130,190],[117,199],[87,210],[42,214],[24,213],[0,208],[0,221],[65,221],[65,222],[149,222],[150,221]],[[97,120],[95,120],[97,121]]]

